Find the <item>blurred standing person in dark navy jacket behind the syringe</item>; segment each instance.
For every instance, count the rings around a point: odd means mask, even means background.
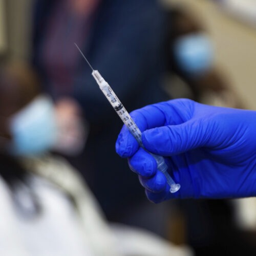
[[[74,42],[132,110],[167,99],[160,88],[164,19],[156,0],[38,0],[33,39],[34,64],[45,91],[56,104],[72,98],[90,126],[83,154],[68,159],[86,177],[108,219],[163,236],[167,206],[146,202],[137,178],[116,155],[121,122]]]

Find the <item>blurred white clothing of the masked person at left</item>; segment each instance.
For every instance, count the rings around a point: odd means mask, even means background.
[[[192,255],[155,234],[124,225],[110,227],[82,178],[62,159],[45,157],[24,164],[33,173],[30,184],[41,214],[30,219],[20,215],[9,187],[0,179],[0,255]],[[20,189],[21,197],[22,193]]]

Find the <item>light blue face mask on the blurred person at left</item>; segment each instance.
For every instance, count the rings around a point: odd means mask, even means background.
[[[54,106],[49,97],[38,96],[10,121],[11,154],[34,156],[45,153],[54,144],[56,124]]]

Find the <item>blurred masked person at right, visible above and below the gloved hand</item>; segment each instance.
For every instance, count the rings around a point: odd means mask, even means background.
[[[215,67],[214,46],[202,20],[182,7],[167,10],[167,20],[167,70],[185,82],[185,96],[201,103],[243,108],[236,92]],[[167,90],[174,97],[184,97],[179,86],[172,88],[175,82],[177,80],[170,80],[172,84]],[[220,251],[232,255],[245,251],[246,255],[255,253],[248,236],[236,227],[232,202],[187,199],[180,200],[177,205],[178,215],[185,223],[182,226],[186,234],[184,239],[196,255],[216,255]]]

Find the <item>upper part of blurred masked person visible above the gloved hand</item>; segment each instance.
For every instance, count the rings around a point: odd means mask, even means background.
[[[202,20],[182,7],[167,10],[166,16],[167,70],[187,84],[191,91],[189,98],[207,104],[241,108],[241,100],[225,75],[216,68],[214,43]]]

